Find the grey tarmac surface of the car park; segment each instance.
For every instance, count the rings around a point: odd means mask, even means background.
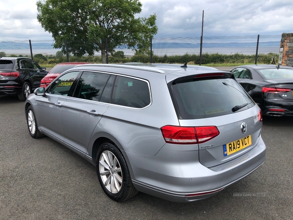
[[[214,197],[175,203],[139,193],[117,203],[95,167],[33,139],[24,102],[0,96],[0,220],[293,220],[293,117],[264,117],[265,163]]]

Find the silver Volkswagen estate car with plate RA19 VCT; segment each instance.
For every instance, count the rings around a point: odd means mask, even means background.
[[[204,66],[87,64],[25,102],[28,131],[96,166],[105,194],[208,198],[266,158],[262,114],[234,75]]]

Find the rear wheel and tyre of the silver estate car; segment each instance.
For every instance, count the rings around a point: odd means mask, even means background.
[[[125,201],[134,197],[134,188],[126,161],[112,143],[103,143],[97,153],[97,175],[105,194],[114,201]]]

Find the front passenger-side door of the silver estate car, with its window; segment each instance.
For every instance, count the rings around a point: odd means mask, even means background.
[[[45,96],[37,100],[38,124],[47,135],[63,141],[64,135],[61,125],[63,105],[73,88],[73,82],[79,71],[68,72],[56,79],[45,90]]]

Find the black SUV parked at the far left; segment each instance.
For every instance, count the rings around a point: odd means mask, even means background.
[[[25,57],[0,57],[0,95],[18,95],[25,101],[29,94],[40,87],[48,73],[45,67]]]

